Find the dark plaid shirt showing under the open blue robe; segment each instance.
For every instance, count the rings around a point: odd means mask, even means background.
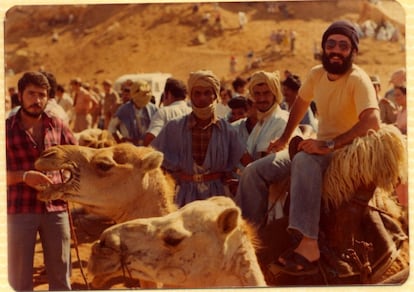
[[[203,165],[206,158],[208,144],[213,133],[213,125],[220,127],[219,120],[216,117],[207,126],[201,127],[197,124],[194,114],[190,114],[188,127],[191,129],[192,135],[193,159],[198,165]]]

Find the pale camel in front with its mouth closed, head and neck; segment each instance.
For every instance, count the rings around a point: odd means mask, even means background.
[[[88,274],[126,270],[174,288],[266,286],[252,236],[230,198],[198,200],[106,229],[92,247]]]

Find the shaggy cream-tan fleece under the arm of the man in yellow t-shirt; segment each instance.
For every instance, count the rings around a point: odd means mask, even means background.
[[[325,205],[339,207],[361,186],[375,185],[392,193],[398,183],[406,181],[407,169],[405,136],[393,125],[382,125],[335,151],[324,176]]]

